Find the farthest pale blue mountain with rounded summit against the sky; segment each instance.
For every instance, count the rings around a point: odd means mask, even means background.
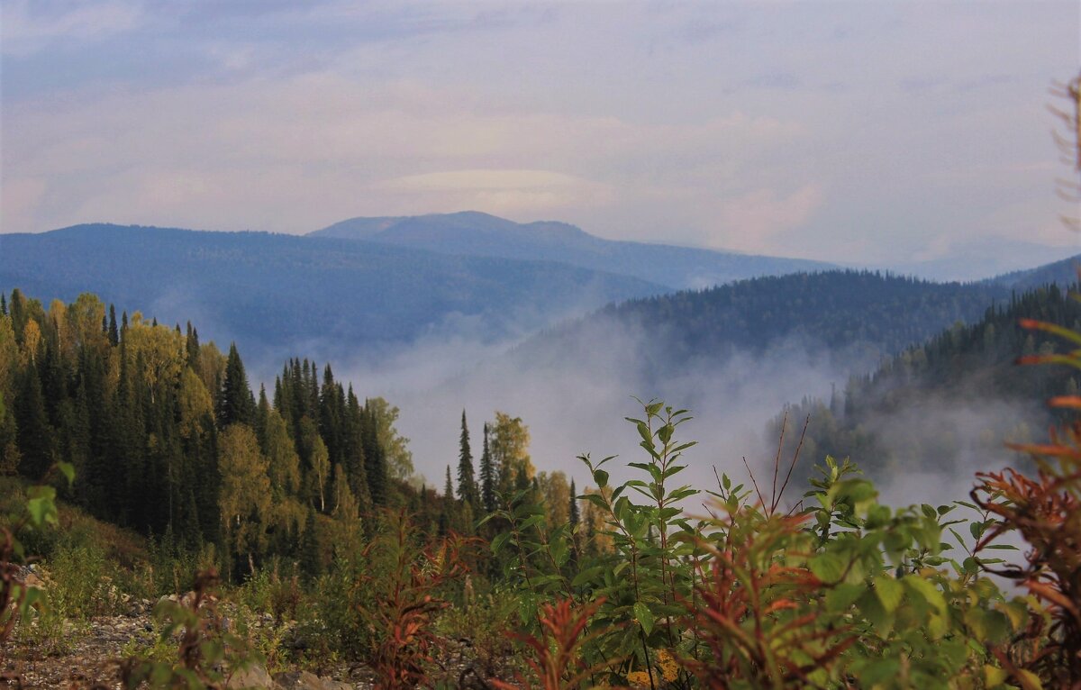
[[[673,289],[836,268],[801,258],[606,240],[566,223],[520,224],[475,211],[351,218],[316,230],[311,236],[362,239],[442,254],[555,261],[635,276]]]

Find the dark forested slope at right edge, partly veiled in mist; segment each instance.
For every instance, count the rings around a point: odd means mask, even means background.
[[[955,323],[921,345],[890,357],[873,372],[853,375],[830,399],[808,397],[769,425],[776,439],[787,416],[786,456],[800,441],[801,456],[851,457],[860,466],[895,470],[955,467],[965,452],[1001,452],[1003,438],[1038,438],[1054,421],[1042,401],[1077,395],[1077,373],[1046,367],[1017,367],[1018,355],[1047,355],[1067,345],[1041,331],[1023,329],[1031,318],[1081,330],[1081,302],[1056,284],[1015,294],[988,307],[971,326]],[[995,419],[1000,406],[1004,419]],[[979,448],[965,448],[957,428],[960,411],[980,410],[986,428],[967,429]],[[1022,414],[1026,411],[1026,414]],[[1060,420],[1059,420],[1060,421]],[[889,435],[890,438],[884,438]],[[813,462],[803,463],[810,468]]]

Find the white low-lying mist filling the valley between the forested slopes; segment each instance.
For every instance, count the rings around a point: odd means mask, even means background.
[[[638,435],[624,419],[641,415],[635,397],[662,399],[693,413],[678,432],[681,439],[698,441],[686,451],[689,466],[681,481],[713,488],[713,466],[746,479],[745,456],[761,479],[772,476],[777,446],[768,422],[804,396],[828,398],[832,386],[843,388],[851,372],[838,353],[797,336],[723,361],[672,361],[665,355],[666,333],[604,316],[586,322],[572,341],[534,339],[528,347],[519,346],[519,340],[479,342],[470,339],[467,320],[458,326],[377,360],[335,363],[336,376],[351,381],[359,395],[383,396],[401,409],[398,428],[411,439],[416,472],[440,487],[446,466],[453,472],[457,464],[463,409],[475,461],[482,425],[498,410],[529,426],[538,470],[562,470],[580,489],[592,482],[579,454],[618,455],[611,467],[613,480],[628,478],[635,470],[625,464],[644,460]],[[1016,460],[1002,439],[1020,438],[1018,428],[1032,429],[1031,412],[986,398],[929,398],[895,414],[873,416],[867,425],[883,447],[895,449],[896,457],[918,456],[919,462],[852,460],[889,503],[937,505],[966,499],[976,470]],[[798,435],[802,423],[789,420],[788,434]],[[793,483],[787,499],[800,497],[802,477],[822,461],[813,451],[801,455],[802,472],[795,475],[801,486]]]

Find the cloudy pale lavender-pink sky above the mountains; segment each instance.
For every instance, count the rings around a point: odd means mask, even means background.
[[[1081,248],[1079,3],[0,0],[0,231],[475,209],[851,262]]]

